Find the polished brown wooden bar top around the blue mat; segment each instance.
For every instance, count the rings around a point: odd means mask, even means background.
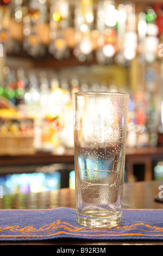
[[[124,184],[123,209],[163,209],[157,202],[159,186],[162,181],[139,181]],[[0,209],[53,209],[58,207],[75,208],[75,191],[70,188],[60,190],[7,195],[0,199]],[[0,220],[1,221],[1,220]],[[163,245],[163,241],[86,241],[86,240],[49,240],[29,242],[2,242],[0,245]]]

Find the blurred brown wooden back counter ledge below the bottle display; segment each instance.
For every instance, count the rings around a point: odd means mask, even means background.
[[[153,180],[154,168],[161,161],[163,161],[163,147],[127,148],[125,181]],[[0,166],[0,175],[33,173],[35,171],[54,172],[62,169],[67,172],[66,175],[69,175],[74,170],[74,151],[73,149],[67,149],[64,155],[55,155],[48,152],[37,152],[32,155],[4,155],[0,156]],[[48,166],[53,166],[53,168],[48,169]],[[135,175],[136,169],[139,170],[136,174],[137,178]],[[68,183],[65,181],[65,184],[67,186]]]

